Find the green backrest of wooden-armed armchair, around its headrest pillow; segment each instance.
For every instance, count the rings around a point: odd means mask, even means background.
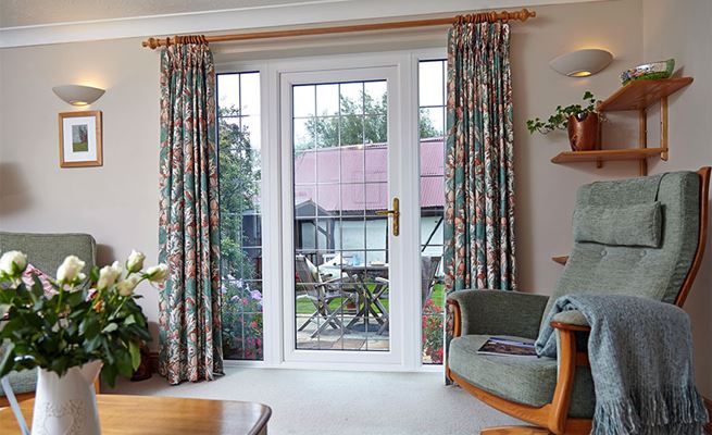
[[[657,207],[653,204],[659,202],[660,244],[651,247],[575,240],[545,318],[557,298],[571,294],[628,295],[674,303],[697,251],[699,187],[700,177],[696,172],[671,172],[582,186],[576,196],[575,213],[590,207],[625,209],[636,204],[648,204],[653,211]],[[580,222],[575,224],[582,225]],[[574,228],[574,234],[579,229]]]

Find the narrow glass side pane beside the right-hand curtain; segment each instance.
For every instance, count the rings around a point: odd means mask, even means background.
[[[421,140],[421,295],[422,361],[442,363],[445,294],[442,211],[445,203],[445,60],[419,65]]]

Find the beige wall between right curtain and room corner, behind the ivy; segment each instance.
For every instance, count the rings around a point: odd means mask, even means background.
[[[580,102],[586,90],[603,99],[620,86],[619,72],[638,64],[642,53],[640,1],[613,1],[539,8],[538,17],[515,26],[512,66],[515,123],[516,231],[520,287],[548,293],[561,265],[552,256],[572,246],[571,214],[576,189],[601,178],[637,175],[637,165],[590,163],[555,165],[551,158],[569,149],[563,132],[529,135],[526,120],[546,119],[558,104]],[[599,74],[571,78],[549,66],[554,57],[597,47],[611,51],[614,61]],[[621,121],[613,126],[613,121]],[[617,116],[604,126],[605,147],[626,147],[635,127]],[[637,126],[637,124],[636,124]]]

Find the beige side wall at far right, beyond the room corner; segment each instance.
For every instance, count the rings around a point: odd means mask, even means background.
[[[712,2],[644,0],[642,8],[644,58],[675,58],[677,74],[695,77],[670,98],[670,161],[651,165],[651,172],[712,165]],[[649,123],[658,120],[655,111]],[[659,136],[655,130],[651,140]],[[712,397],[712,232],[709,235],[707,257],[685,309],[692,318],[698,385]]]

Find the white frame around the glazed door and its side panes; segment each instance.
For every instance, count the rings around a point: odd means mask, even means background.
[[[265,62],[229,62],[218,64],[218,72],[259,71],[261,75],[262,108],[262,244],[263,244],[263,361],[226,361],[226,365],[268,366],[284,369],[329,369],[355,371],[442,371],[442,365],[424,365],[421,362],[421,306],[420,306],[420,147],[417,65],[420,60],[442,59],[445,48],[408,50],[351,55],[328,55]],[[389,101],[389,153],[397,152],[398,170],[389,165],[394,186],[401,186],[401,236],[396,246],[391,237],[391,270],[401,270],[399,281],[402,291],[391,293],[391,319],[394,332],[400,331],[400,343],[391,336],[389,352],[343,352],[347,357],[326,357],[324,350],[293,351],[293,195],[291,152],[284,152],[285,137],[291,141],[290,132],[283,132],[282,95],[283,76],[297,77],[298,73],[350,69],[390,69],[394,86],[388,85]],[[341,78],[337,79],[343,80]],[[390,116],[398,115],[391,128]],[[291,120],[286,125],[291,125]],[[391,136],[396,135],[395,137]],[[288,162],[289,174],[282,173]],[[275,170],[276,169],[276,170]],[[288,196],[285,200],[284,197]],[[284,206],[286,204],[286,207]],[[389,225],[390,229],[390,225]],[[390,234],[390,233],[389,233]],[[414,235],[409,237],[408,235]],[[398,249],[395,251],[394,249]],[[283,269],[284,264],[284,269]],[[405,273],[403,271],[411,271]],[[414,271],[414,273],[413,273]],[[291,286],[291,288],[289,288]],[[408,293],[408,295],[405,294]],[[286,296],[291,294],[292,297]],[[289,300],[291,299],[291,300]],[[394,304],[396,303],[396,304]],[[291,328],[286,325],[291,324]],[[291,332],[285,333],[285,331]],[[287,348],[287,343],[291,348]],[[289,351],[288,351],[289,350]],[[313,361],[316,352],[322,362]],[[357,353],[367,353],[353,358]],[[387,353],[379,357],[379,353]]]

